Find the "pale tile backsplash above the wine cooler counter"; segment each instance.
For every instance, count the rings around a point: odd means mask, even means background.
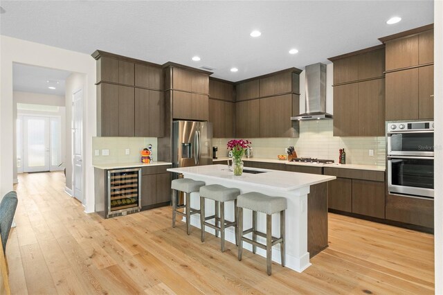
[[[92,163],[102,165],[140,162],[141,150],[150,144],[154,161],[157,161],[157,138],[155,137],[93,137]],[[129,149],[129,155],[125,154],[126,149]],[[100,151],[100,156],[95,156],[95,150]],[[103,156],[102,150],[109,150],[109,156]]]

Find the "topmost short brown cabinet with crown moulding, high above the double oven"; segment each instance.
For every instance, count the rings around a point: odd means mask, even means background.
[[[434,62],[433,24],[379,39],[386,44],[386,71]]]

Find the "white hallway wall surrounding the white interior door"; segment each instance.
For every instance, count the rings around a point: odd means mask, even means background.
[[[80,89],[83,89],[84,86],[87,85],[87,75],[84,75],[82,73],[72,73],[69,75],[68,78],[66,78],[65,82],[65,104],[66,104],[66,154],[71,155],[72,154],[72,98],[73,93],[79,91]],[[87,96],[83,95],[83,106],[86,105]],[[86,113],[86,109],[83,109],[83,114]],[[83,130],[85,128],[84,121],[83,121]],[[95,128],[94,128],[95,129]],[[83,143],[83,152],[85,145]],[[84,157],[85,154],[83,154]],[[69,161],[66,161],[66,191],[72,190],[72,159],[70,158]]]

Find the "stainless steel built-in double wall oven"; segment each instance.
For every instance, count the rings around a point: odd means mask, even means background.
[[[433,121],[388,122],[388,193],[434,197]]]

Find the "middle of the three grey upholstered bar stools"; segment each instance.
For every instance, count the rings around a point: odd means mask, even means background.
[[[205,241],[205,226],[215,229],[215,236],[219,236],[221,232],[221,252],[224,252],[224,230],[226,227],[235,226],[235,244],[237,243],[237,196],[240,194],[238,188],[226,188],[219,184],[210,184],[209,186],[202,186],[200,188],[200,224],[201,224],[201,242]],[[212,199],[215,201],[215,215],[205,216],[205,199]],[[224,202],[234,201],[234,221],[229,222],[224,219]],[[220,204],[220,214],[219,214]],[[215,220],[215,224],[210,224],[206,220]],[[220,223],[220,226],[218,226]]]

